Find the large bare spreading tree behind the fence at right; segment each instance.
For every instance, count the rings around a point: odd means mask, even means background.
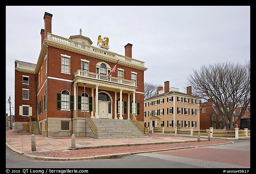
[[[245,65],[225,62],[193,70],[188,82],[193,95],[212,99],[226,128],[232,129],[250,103],[250,78],[250,62]],[[240,115],[232,122],[233,112],[238,106],[242,107]]]

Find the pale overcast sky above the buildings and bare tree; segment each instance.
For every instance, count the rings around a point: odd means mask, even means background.
[[[121,55],[131,43],[132,58],[148,68],[144,82],[170,81],[183,93],[193,69],[250,60],[250,6],[6,6],[5,98],[13,107],[14,61],[36,64],[44,12],[53,15],[54,35],[69,38],[81,28],[92,46],[108,37],[109,50]]]

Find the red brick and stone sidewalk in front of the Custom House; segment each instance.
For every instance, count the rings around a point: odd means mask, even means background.
[[[126,139],[76,139],[76,149],[71,149],[71,139],[49,138],[35,135],[36,152],[31,152],[31,135],[14,134],[6,131],[6,144],[13,151],[31,159],[80,160],[116,158],[145,152],[175,150],[191,147],[212,146],[232,143],[225,139],[202,139],[175,135],[150,134],[148,138]]]

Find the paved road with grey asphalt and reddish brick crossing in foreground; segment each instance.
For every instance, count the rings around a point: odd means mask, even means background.
[[[250,140],[232,141],[235,143],[67,162],[32,160],[6,148],[6,168],[250,168]]]

